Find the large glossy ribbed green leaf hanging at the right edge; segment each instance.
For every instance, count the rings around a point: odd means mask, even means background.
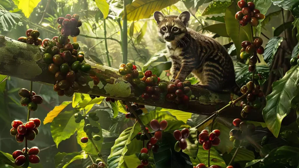
[[[291,100],[297,95],[299,67],[293,66],[279,81],[273,82],[272,93],[266,97],[263,118],[275,137],[278,136],[281,121],[291,110]]]

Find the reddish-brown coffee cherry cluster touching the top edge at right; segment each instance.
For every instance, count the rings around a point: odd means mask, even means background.
[[[241,11],[238,11],[235,18],[239,21],[240,26],[246,26],[248,23],[251,26],[257,26],[260,19],[265,19],[265,15],[260,13],[260,10],[254,9],[255,5],[253,2],[246,2],[244,0],[238,1],[238,6]]]

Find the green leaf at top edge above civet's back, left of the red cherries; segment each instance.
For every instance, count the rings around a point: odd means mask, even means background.
[[[214,1],[205,8],[205,10],[202,12],[202,16],[225,13],[225,10],[229,5],[231,5],[231,2],[228,1]]]

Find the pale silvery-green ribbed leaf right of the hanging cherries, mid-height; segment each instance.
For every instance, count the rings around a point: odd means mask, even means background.
[[[278,47],[283,41],[283,37],[272,37],[268,41],[265,47],[265,52],[263,54],[265,62],[271,66],[274,56],[277,52]]]

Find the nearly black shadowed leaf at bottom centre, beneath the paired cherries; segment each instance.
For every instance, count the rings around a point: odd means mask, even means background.
[[[177,140],[173,137],[173,134],[162,132],[162,143],[157,143],[159,150],[157,153],[153,153],[157,168],[170,167],[170,165],[171,168],[193,167],[190,157],[187,154],[174,150],[176,142]]]

